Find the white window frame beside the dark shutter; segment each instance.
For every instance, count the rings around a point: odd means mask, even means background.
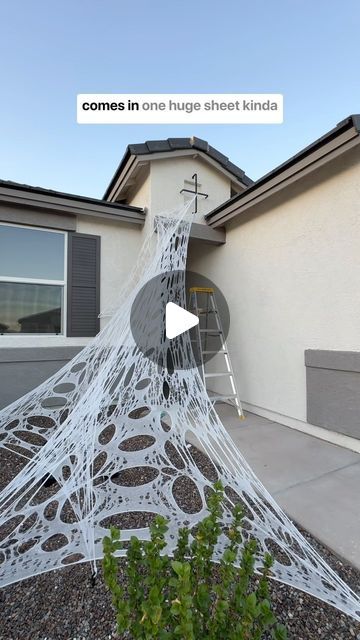
[[[61,305],[61,332],[59,333],[3,333],[2,336],[44,336],[47,338],[66,336],[67,335],[67,295],[68,295],[68,232],[61,229],[48,229],[48,227],[35,227],[34,225],[15,224],[12,222],[0,222],[2,227],[18,227],[20,229],[33,229],[34,231],[46,231],[47,233],[58,233],[64,236],[64,280],[46,280],[41,278],[17,278],[10,276],[2,276],[0,274],[0,282],[17,282],[21,284],[47,284],[62,287],[62,305]]]

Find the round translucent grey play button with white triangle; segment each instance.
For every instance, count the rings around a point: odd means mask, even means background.
[[[130,314],[137,347],[168,371],[199,367],[223,353],[229,326],[218,286],[192,271],[168,271],[149,280]]]

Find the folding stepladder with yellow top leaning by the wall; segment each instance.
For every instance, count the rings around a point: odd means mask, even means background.
[[[221,325],[219,309],[215,300],[215,291],[211,287],[191,287],[188,310],[199,318],[199,324],[194,327],[197,333],[196,339],[192,342],[196,344],[197,361],[200,363],[200,374],[208,391],[209,398],[213,405],[217,402],[225,402],[236,408],[239,418],[243,419],[243,411],[236,388],[235,376],[231,366],[229,351],[225,341],[225,335]],[[212,326],[211,326],[212,325]],[[218,348],[212,344],[217,341]],[[205,370],[204,356],[214,356],[216,363],[223,361],[222,371]],[[218,366],[218,364],[217,364]],[[209,389],[210,380],[224,378],[228,392],[224,394],[216,393]]]

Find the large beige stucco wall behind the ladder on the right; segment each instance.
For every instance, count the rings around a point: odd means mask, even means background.
[[[359,350],[359,151],[232,222],[226,245],[190,251],[189,267],[227,298],[241,398],[306,420],[304,350]]]

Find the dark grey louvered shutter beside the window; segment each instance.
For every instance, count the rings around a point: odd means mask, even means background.
[[[67,335],[95,336],[100,313],[100,236],[69,233]]]

